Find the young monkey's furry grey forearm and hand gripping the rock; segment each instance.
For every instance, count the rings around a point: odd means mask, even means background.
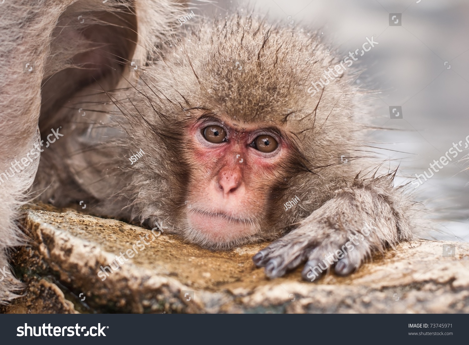
[[[296,229],[258,252],[254,263],[265,266],[269,278],[280,277],[304,262],[305,280],[313,281],[329,269],[346,276],[372,252],[410,239],[401,193],[380,182],[361,182],[360,187],[338,190]]]

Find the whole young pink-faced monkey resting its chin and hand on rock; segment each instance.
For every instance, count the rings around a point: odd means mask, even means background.
[[[408,202],[392,176],[363,178],[347,74],[307,92],[340,60],[326,50],[254,17],[196,24],[143,71],[103,78],[49,117],[63,137],[43,152],[35,189],[214,250],[276,240],[254,256],[269,277],[306,262],[314,280],[325,257],[349,274],[411,237]]]

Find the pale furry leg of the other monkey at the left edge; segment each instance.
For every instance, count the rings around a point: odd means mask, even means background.
[[[15,0],[0,5],[0,303],[15,297],[19,285],[7,261],[7,248],[21,243],[15,224],[24,192],[39,159],[41,80],[50,37],[72,0]]]

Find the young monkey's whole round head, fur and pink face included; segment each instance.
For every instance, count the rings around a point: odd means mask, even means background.
[[[125,107],[138,109],[127,116],[138,121],[128,132],[148,143],[142,159],[164,167],[135,175],[143,181],[132,185],[144,205],[139,217],[168,219],[174,232],[211,249],[291,230],[328,197],[324,176],[340,179],[343,169],[333,166],[337,152],[348,151],[345,79],[314,97],[307,92],[331,64],[317,40],[280,28],[268,40],[269,26],[245,24],[206,23],[188,33],[148,66],[142,91]],[[133,129],[142,127],[148,132]],[[301,206],[285,206],[294,199]]]

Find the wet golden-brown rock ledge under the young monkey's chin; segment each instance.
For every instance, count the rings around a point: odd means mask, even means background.
[[[267,279],[251,261],[266,244],[211,252],[71,210],[27,210],[23,225],[35,243],[16,253],[16,274],[55,282],[81,312],[469,313],[469,243],[403,243],[350,277],[307,283],[301,270]],[[100,266],[146,235],[149,245],[101,281]]]

